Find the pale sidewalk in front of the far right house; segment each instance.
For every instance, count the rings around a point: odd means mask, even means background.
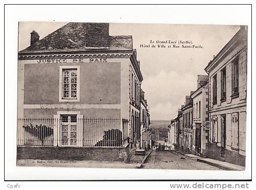
[[[244,166],[239,166],[236,164],[232,164],[226,161],[219,161],[211,158],[198,158],[197,161],[204,162],[206,164],[209,164],[211,166],[215,166],[218,168],[221,168],[223,170],[235,170],[235,171],[244,171]]]

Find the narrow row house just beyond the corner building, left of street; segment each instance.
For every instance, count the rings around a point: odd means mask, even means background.
[[[140,148],[143,150],[151,149],[151,125],[150,114],[148,109],[147,100],[144,97],[145,92],[140,90]]]

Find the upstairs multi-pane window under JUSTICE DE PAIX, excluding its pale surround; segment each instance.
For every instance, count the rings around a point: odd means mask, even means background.
[[[77,69],[63,69],[63,98],[77,97]]]

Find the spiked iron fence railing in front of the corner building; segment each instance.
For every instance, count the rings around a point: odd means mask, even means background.
[[[112,118],[17,119],[17,145],[123,146],[122,120]]]

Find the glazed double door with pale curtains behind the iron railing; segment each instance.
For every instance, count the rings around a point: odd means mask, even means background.
[[[77,145],[77,121],[76,115],[61,115],[61,145]]]

